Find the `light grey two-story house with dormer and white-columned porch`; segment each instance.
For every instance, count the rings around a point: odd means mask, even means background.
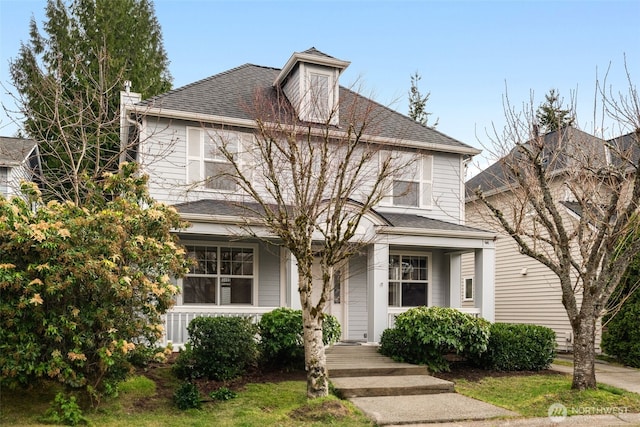
[[[274,103],[286,97],[299,106],[300,120],[320,126],[323,112],[343,102],[371,102],[339,85],[348,65],[312,48],[294,53],[282,69],[246,64],[146,101],[122,93],[121,135],[137,147],[128,158],[149,175],[152,197],[192,224],[178,234],[197,266],[178,281],[182,292],[166,316],[168,341],[184,343],[195,316],[257,319],[277,307],[300,307],[295,259],[277,241],[243,232],[247,211],[237,202],[250,198],[230,180],[212,178],[229,165],[205,129],[250,147],[257,124],[247,106],[256,93]],[[314,108],[304,107],[308,93],[319,94]],[[411,306],[461,307],[463,253],[476,259],[474,304],[466,311],[493,320],[495,233],[467,227],[464,219],[465,165],[479,150],[372,105],[383,119],[365,139],[419,161],[398,177],[408,190],[389,194],[366,215],[363,226],[375,239],[334,278],[327,311],[340,321],[342,339],[377,342]],[[336,117],[332,131],[347,128],[342,120]],[[244,164],[248,171],[254,166]]]

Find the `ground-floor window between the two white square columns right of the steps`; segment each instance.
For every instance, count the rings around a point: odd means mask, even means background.
[[[429,305],[429,257],[389,255],[389,306]]]

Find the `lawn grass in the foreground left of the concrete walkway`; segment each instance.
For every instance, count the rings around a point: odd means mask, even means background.
[[[172,403],[177,380],[169,369],[152,378],[134,376],[122,383],[117,398],[105,399],[84,415],[93,426],[373,426],[357,408],[335,396],[309,400],[306,382],[247,384],[227,401],[206,399],[199,410],[180,411]],[[0,425],[41,426],[39,418],[59,389],[1,390]],[[203,396],[206,398],[206,396]]]

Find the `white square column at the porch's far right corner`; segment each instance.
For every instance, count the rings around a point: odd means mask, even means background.
[[[495,248],[475,250],[475,302],[480,315],[490,322],[495,321]]]

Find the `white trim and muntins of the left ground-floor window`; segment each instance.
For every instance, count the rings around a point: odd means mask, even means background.
[[[251,289],[251,303],[250,304],[221,304],[220,294],[216,293],[216,303],[185,303],[184,302],[184,278],[178,279],[178,287],[180,288],[180,293],[176,298],[176,306],[184,306],[184,307],[200,307],[200,308],[213,308],[213,307],[259,307],[258,301],[258,288],[259,288],[259,245],[257,243],[232,243],[232,242],[224,242],[224,241],[203,241],[203,240],[188,240],[180,242],[183,246],[198,246],[198,247],[215,247],[218,250],[218,254],[220,253],[220,248],[240,248],[240,249],[252,249],[253,250],[253,275],[252,276],[242,276],[242,277],[251,277],[253,279],[253,286]],[[219,257],[218,257],[219,259]],[[218,264],[218,271],[215,275],[209,274],[193,274],[193,277],[215,277],[216,279],[220,279],[221,277],[233,276],[233,275],[221,275],[219,273],[220,265]],[[184,277],[189,277],[190,274],[187,273]],[[216,292],[221,287],[220,281],[218,280]]]

